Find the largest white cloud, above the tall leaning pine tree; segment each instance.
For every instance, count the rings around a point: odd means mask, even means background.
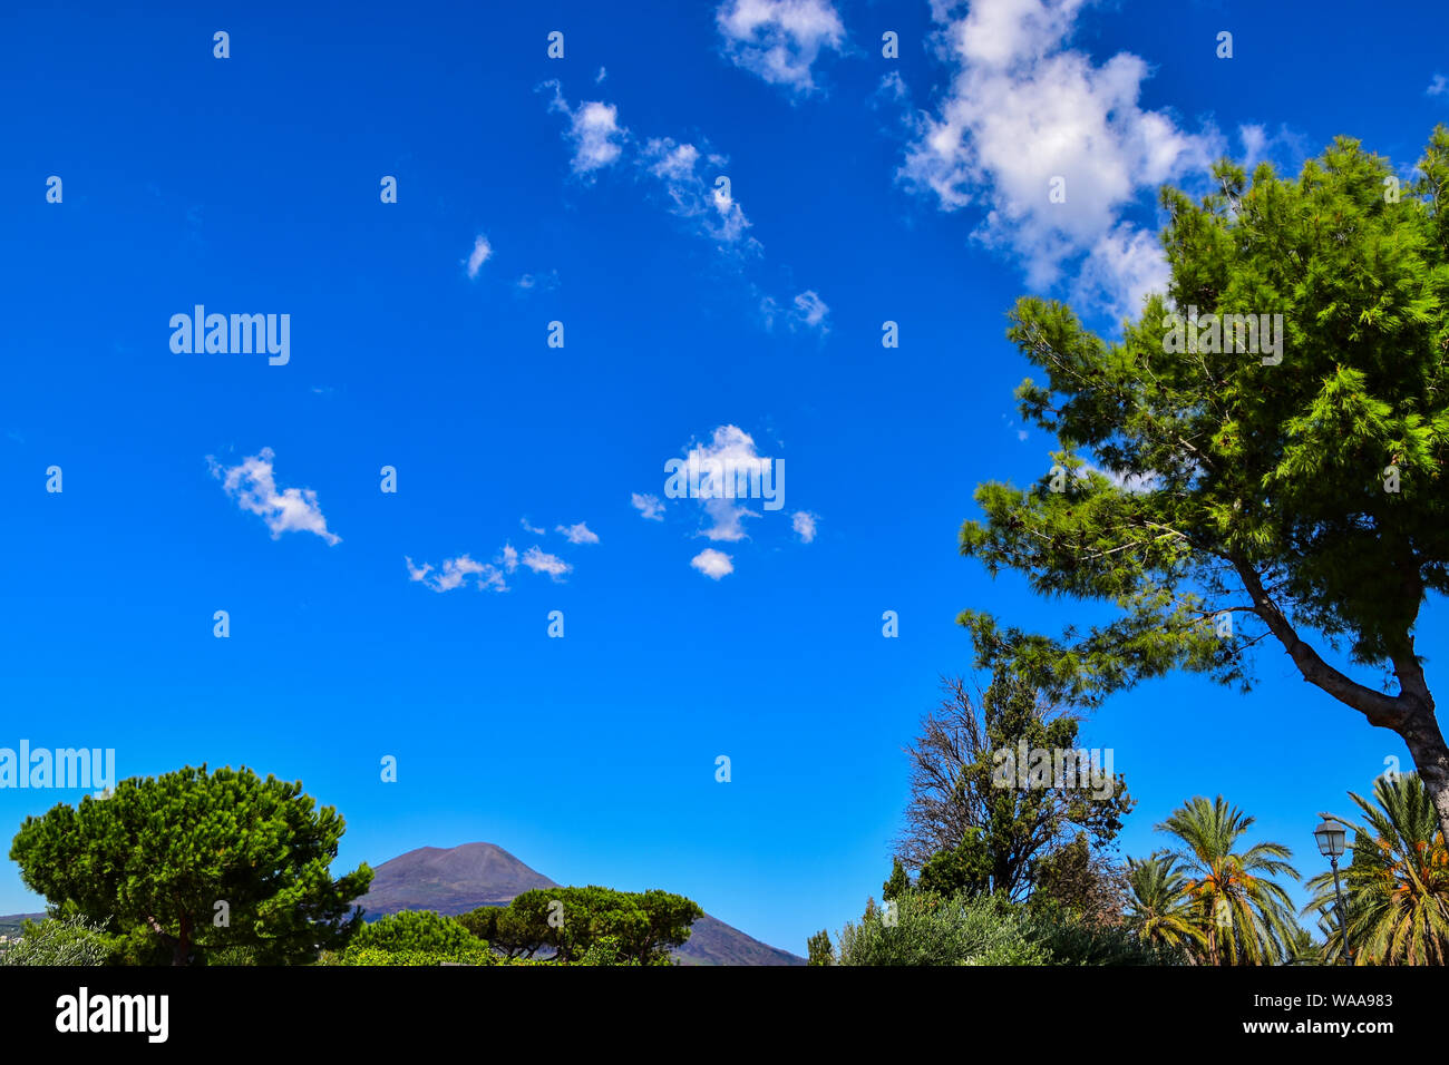
[[[1148,65],[1119,52],[1101,65],[1068,41],[1087,0],[933,0],[952,84],[933,114],[909,119],[898,177],[942,210],[985,213],[974,236],[1019,258],[1033,287],[1085,256],[1085,291],[1117,313],[1165,277],[1152,236],[1124,222],[1168,180],[1206,171],[1214,132],[1188,133],[1143,110]],[[1052,203],[1053,178],[1065,201]]]

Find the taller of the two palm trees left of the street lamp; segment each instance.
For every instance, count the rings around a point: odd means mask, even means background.
[[[1195,923],[1207,933],[1213,965],[1277,965],[1290,953],[1298,923],[1288,893],[1272,877],[1298,880],[1288,864],[1293,851],[1282,843],[1255,843],[1242,853],[1233,846],[1253,824],[1222,795],[1208,803],[1201,795],[1175,810],[1158,832],[1169,832],[1185,845],[1178,856],[1188,875],[1184,891]]]

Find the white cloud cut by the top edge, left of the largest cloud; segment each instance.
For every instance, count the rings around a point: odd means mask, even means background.
[[[830,0],[724,0],[714,25],[735,65],[801,96],[816,88],[810,68],[820,52],[845,46]]]

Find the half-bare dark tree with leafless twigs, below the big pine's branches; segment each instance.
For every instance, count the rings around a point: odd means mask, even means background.
[[[909,749],[911,803],[903,856],[917,862],[917,887],[942,895],[1004,891],[1022,900],[1037,865],[1082,836],[1108,846],[1135,806],[1126,781],[1100,791],[1053,778],[1022,787],[1014,761],[1027,751],[1077,751],[1078,722],[1045,703],[1036,687],[1000,671],[974,701],[961,680],[946,682],[940,709]],[[1065,774],[1064,774],[1065,777]]]

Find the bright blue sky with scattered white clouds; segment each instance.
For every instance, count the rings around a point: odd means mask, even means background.
[[[1449,120],[1439,4],[1174,7],[7,6],[0,746],[245,764],[342,811],[346,868],[490,840],[803,953],[890,869],[956,614],[1072,616],[956,554],[1055,448],[1016,297],[1111,333],[1161,181],[1337,133],[1407,174]],[[174,352],[197,304],[288,314],[285,365]],[[784,507],[667,498],[691,448],[784,461]],[[1259,675],[1087,722],[1124,853],[1223,793],[1317,872],[1316,814],[1410,764]],[[80,794],[0,790],[6,838]],[[39,906],[0,865],[0,913]]]

